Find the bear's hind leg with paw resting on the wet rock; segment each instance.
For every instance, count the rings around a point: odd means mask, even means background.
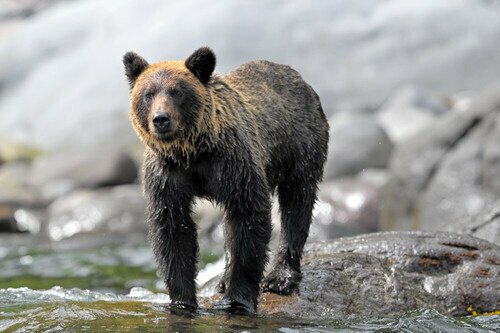
[[[310,173],[299,174],[278,185],[280,243],[273,269],[262,282],[263,291],[289,295],[302,279],[300,259],[316,201],[317,178],[311,177]]]

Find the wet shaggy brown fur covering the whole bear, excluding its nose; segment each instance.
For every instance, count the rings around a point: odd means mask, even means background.
[[[150,239],[172,303],[197,306],[195,197],[212,200],[226,213],[224,297],[216,307],[255,311],[259,284],[289,294],[301,279],[300,259],[327,153],[328,123],[317,94],[295,70],[268,61],[213,75],[209,48],[186,61],[149,65],[134,53],[123,61],[130,117],[147,146]],[[168,113],[168,134],[155,128],[157,112]],[[263,279],[275,191],[281,238],[274,268]]]

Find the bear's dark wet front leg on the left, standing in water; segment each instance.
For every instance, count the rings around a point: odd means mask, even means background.
[[[145,173],[144,185],[149,238],[172,304],[196,308],[198,240],[189,183],[182,174],[153,172]]]

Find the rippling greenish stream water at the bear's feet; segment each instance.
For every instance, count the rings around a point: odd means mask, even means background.
[[[210,269],[220,269],[212,265]],[[0,332],[497,332],[500,315],[450,318],[422,309],[395,318],[301,320],[206,309],[172,314],[149,247],[36,252],[0,246]],[[211,275],[209,271],[202,271]],[[78,287],[78,288],[75,288]]]

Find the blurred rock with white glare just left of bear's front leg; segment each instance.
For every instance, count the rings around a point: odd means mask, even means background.
[[[54,241],[70,238],[69,242],[75,242],[90,235],[109,245],[133,234],[143,237],[145,210],[139,185],[78,190],[48,207],[45,232]]]

